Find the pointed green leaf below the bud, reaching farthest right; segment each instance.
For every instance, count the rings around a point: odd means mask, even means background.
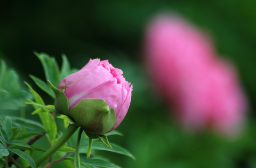
[[[135,157],[130,152],[128,152],[128,150],[124,149],[123,147],[120,147],[119,145],[116,145],[113,143],[111,143],[111,146],[113,147],[112,149],[110,149],[109,147],[107,147],[106,145],[104,145],[101,142],[93,142],[92,149],[105,150],[105,151],[109,151],[109,152],[123,154],[123,155],[127,155],[127,156],[131,157],[132,159],[136,160]],[[87,146],[81,146],[80,153],[86,154],[87,148],[88,148]]]

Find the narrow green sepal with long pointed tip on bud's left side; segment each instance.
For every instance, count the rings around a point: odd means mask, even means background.
[[[56,99],[54,101],[56,112],[59,114],[69,115],[68,98],[65,93],[51,84],[49,80],[47,82],[56,95]]]

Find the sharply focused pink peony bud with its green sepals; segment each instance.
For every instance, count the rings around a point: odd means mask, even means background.
[[[90,59],[81,70],[65,77],[58,85],[59,90],[55,89],[56,111],[92,134],[114,130],[131,102],[132,85],[122,74],[107,60]]]

